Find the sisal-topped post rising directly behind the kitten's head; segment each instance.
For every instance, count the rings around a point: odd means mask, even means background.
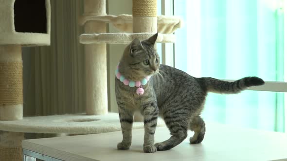
[[[157,32],[157,0],[132,0],[132,16],[133,33]],[[134,121],[142,122],[142,114],[136,112]]]

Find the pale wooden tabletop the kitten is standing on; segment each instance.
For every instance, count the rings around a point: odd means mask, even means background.
[[[143,153],[143,129],[133,130],[129,150],[117,150],[121,131],[101,134],[23,140],[24,155],[45,161],[270,161],[287,159],[287,133],[242,129],[207,123],[201,144],[189,137],[168,151]],[[157,128],[156,142],[169,138],[165,127]]]

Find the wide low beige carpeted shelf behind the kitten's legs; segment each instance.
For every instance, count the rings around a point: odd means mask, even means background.
[[[158,126],[165,126],[162,119]],[[143,122],[134,122],[133,129],[143,128]],[[105,115],[64,114],[23,117],[22,120],[0,121],[0,130],[33,133],[89,134],[121,130],[118,113]]]

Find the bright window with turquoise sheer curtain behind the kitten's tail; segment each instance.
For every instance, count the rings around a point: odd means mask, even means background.
[[[161,0],[184,27],[175,32],[174,66],[195,77],[267,83],[238,95],[209,94],[206,121],[286,131],[285,0]],[[162,5],[162,4],[161,4]],[[165,6],[163,6],[165,7]],[[285,26],[285,28],[284,28]],[[166,56],[166,55],[165,55]],[[163,56],[164,57],[164,56]],[[172,59],[172,58],[171,58]],[[271,92],[266,92],[271,91]]]

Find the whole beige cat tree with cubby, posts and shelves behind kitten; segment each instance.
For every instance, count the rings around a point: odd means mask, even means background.
[[[85,33],[79,40],[85,44],[86,54],[86,114],[23,117],[21,46],[50,45],[50,0],[33,2],[35,10],[28,12],[33,4],[25,8],[23,0],[0,0],[0,161],[22,160],[24,133],[121,130],[118,114],[108,113],[106,44],[128,44],[134,38],[143,40],[156,32],[157,42],[174,42],[171,33],[181,26],[178,17],[157,16],[156,0],[133,0],[132,16],[107,15],[106,0],[84,0],[79,24],[85,25]],[[27,18],[27,14],[34,19]],[[106,33],[106,23],[112,23],[122,33]],[[163,125],[159,119],[158,126]],[[143,123],[135,122],[133,128],[143,128]]]

